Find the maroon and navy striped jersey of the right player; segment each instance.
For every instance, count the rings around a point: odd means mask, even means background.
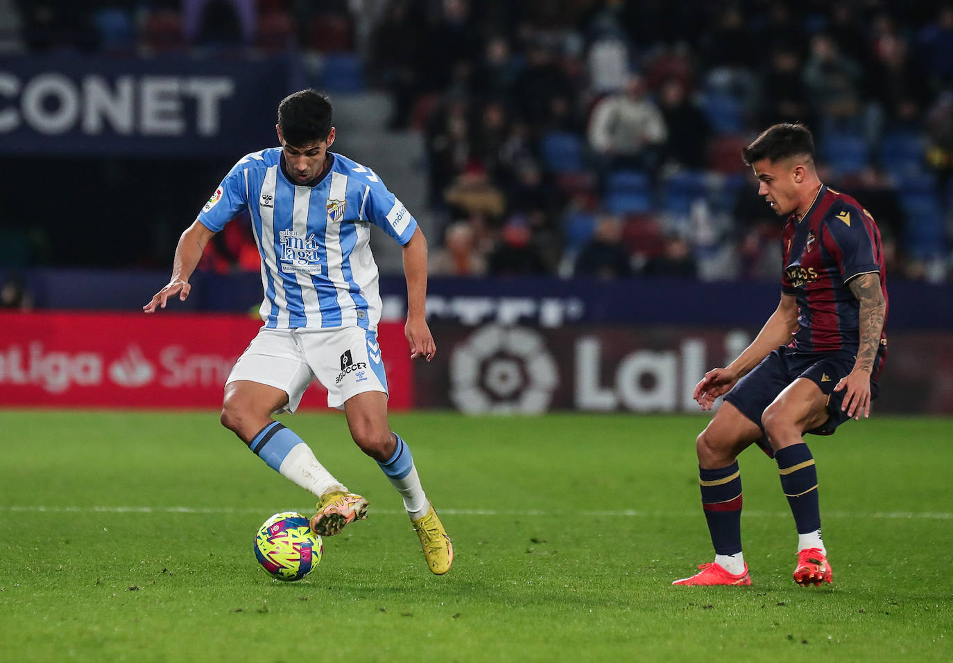
[[[791,347],[803,352],[847,350],[860,345],[860,302],[847,283],[862,274],[879,274],[887,301],[881,232],[856,200],[821,185],[800,221],[792,214],[784,225],[784,274],[781,288],[798,301],[798,331]],[[884,320],[886,311],[884,311]],[[874,367],[876,379],[886,352]]]

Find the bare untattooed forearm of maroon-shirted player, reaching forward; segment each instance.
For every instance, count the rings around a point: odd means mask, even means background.
[[[692,398],[699,401],[702,410],[710,410],[715,399],[728,393],[735,383],[747,375],[771,351],[791,342],[798,331],[798,301],[794,295],[781,294],[778,308],[771,314],[758,336],[735,361],[724,368],[713,368],[695,387]]]

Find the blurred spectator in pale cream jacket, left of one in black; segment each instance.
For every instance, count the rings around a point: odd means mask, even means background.
[[[588,133],[602,177],[623,168],[654,172],[668,140],[661,111],[639,75],[629,77],[624,91],[598,101]]]

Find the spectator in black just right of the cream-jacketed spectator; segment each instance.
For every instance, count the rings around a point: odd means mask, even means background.
[[[704,112],[688,96],[681,79],[672,77],[662,83],[659,108],[668,131],[666,166],[704,167],[712,130]]]

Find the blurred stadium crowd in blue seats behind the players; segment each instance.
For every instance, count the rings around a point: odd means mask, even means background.
[[[436,273],[777,278],[740,159],[776,122],[814,130],[892,277],[950,271],[950,4],[0,0],[0,50],[64,48],[335,55],[425,138]]]

